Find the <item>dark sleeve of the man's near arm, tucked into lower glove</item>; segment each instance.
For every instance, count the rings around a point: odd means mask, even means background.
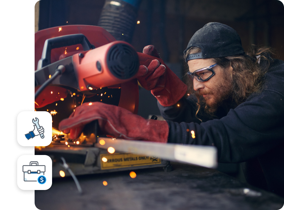
[[[169,111],[171,116],[173,110],[176,109],[164,108],[164,113]],[[187,116],[188,112],[183,110],[182,113]],[[183,114],[178,115],[179,120],[183,118]],[[264,90],[252,94],[221,119],[200,124],[167,120],[170,129],[168,143],[213,145],[218,149],[219,162],[244,162],[284,141],[283,118],[283,94]],[[192,138],[191,131],[195,132],[195,138]]]

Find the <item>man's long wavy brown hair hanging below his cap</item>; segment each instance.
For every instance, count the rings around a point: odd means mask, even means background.
[[[189,48],[186,51],[184,58],[192,53],[201,53],[201,49],[199,47]],[[251,45],[248,49],[248,53],[244,55],[213,58],[215,63],[218,63],[223,70],[229,66],[232,66],[233,68],[233,71],[230,75],[232,79],[232,94],[230,95],[230,98],[236,105],[243,103],[250,94],[262,91],[264,83],[263,76],[267,72],[269,63],[273,61],[270,57],[271,54],[274,53],[270,47]],[[261,68],[259,65],[260,59],[267,61],[264,68]],[[188,72],[187,63],[186,68],[186,72]],[[195,114],[196,118],[200,108],[204,108],[206,113],[214,116],[214,111],[216,111],[216,108],[210,108],[205,104],[204,99],[200,97],[198,92],[193,89],[193,82],[191,79],[189,79],[187,74],[185,75],[185,82],[188,87],[187,94],[194,94],[197,98],[197,111]],[[202,122],[201,119],[199,120]]]

